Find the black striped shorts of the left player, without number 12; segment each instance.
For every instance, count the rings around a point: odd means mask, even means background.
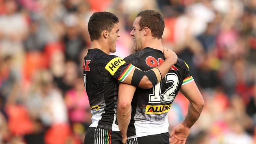
[[[122,144],[122,137],[119,131],[89,127],[85,134],[84,144]]]

